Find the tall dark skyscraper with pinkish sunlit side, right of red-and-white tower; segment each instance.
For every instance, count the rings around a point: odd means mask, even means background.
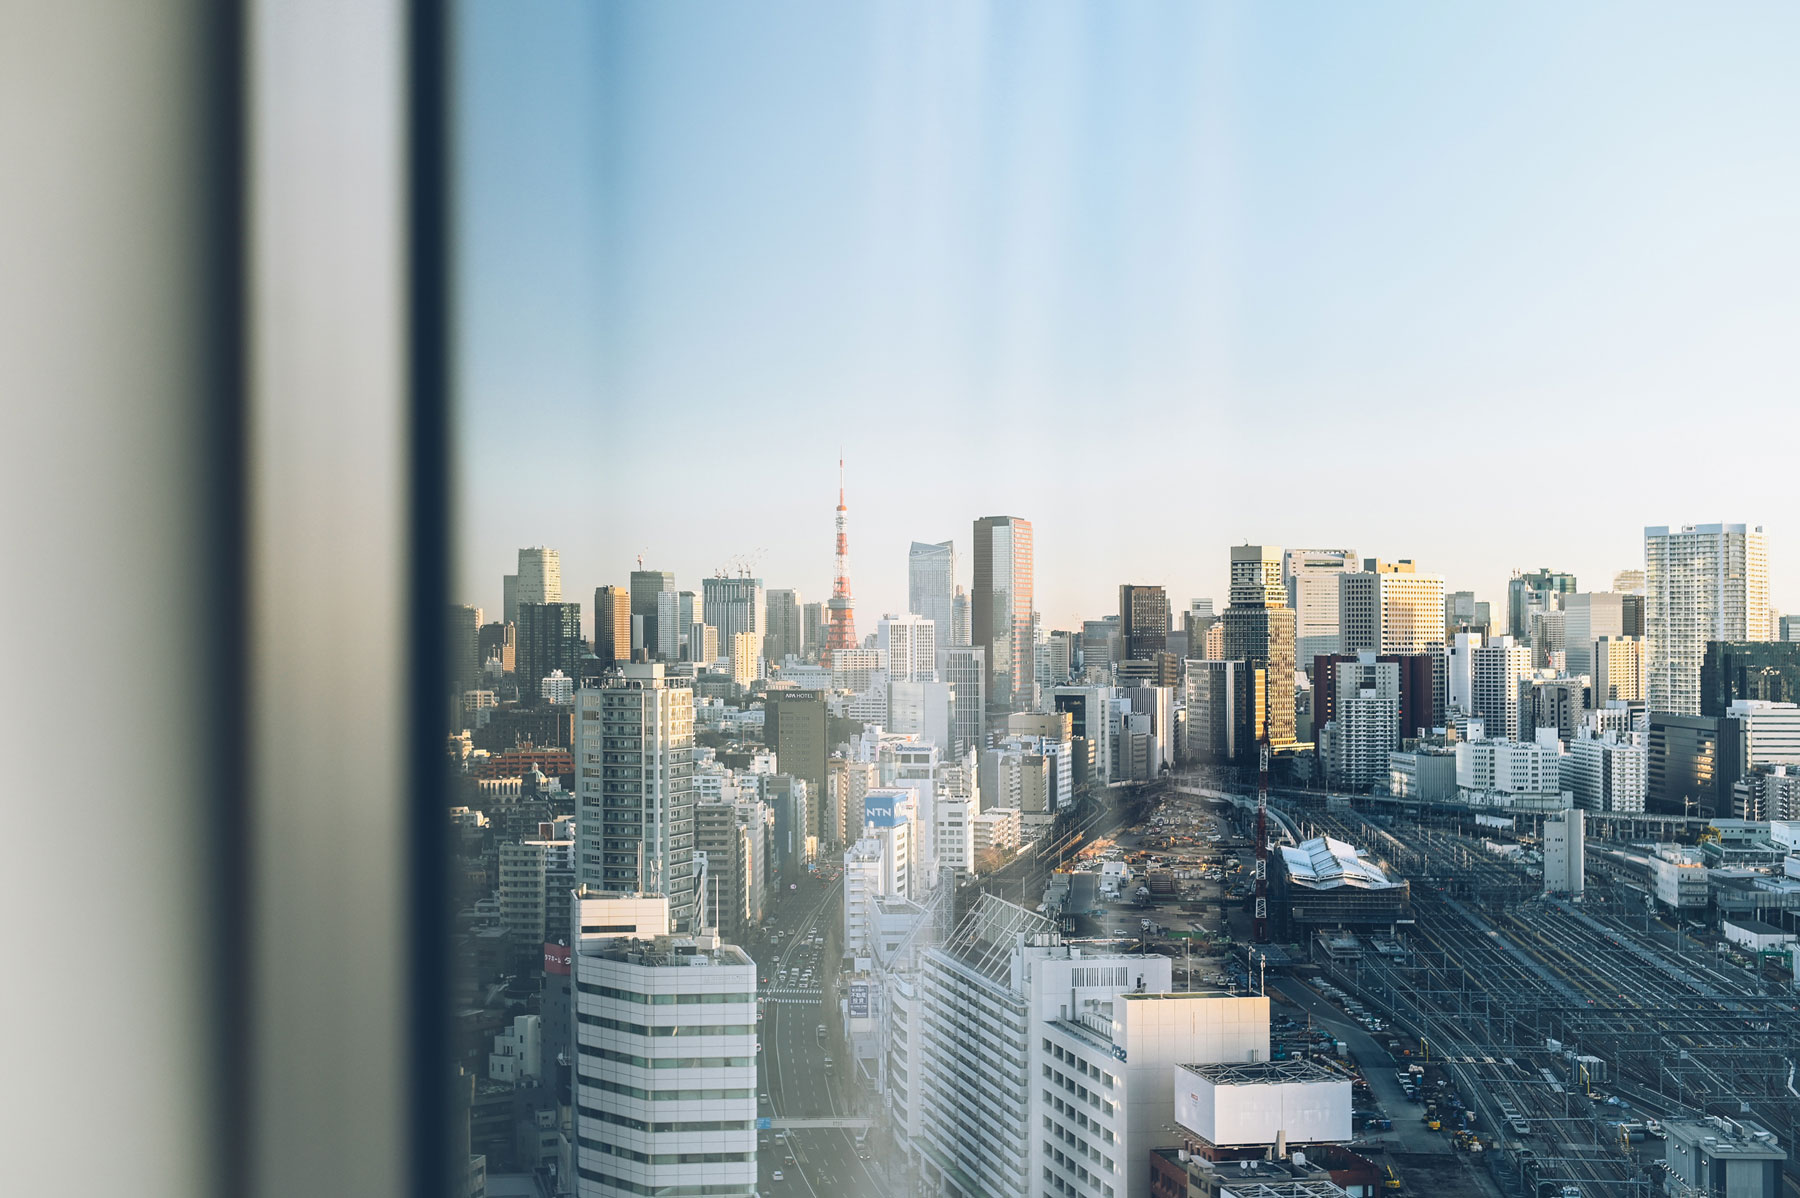
[[[994,711],[1030,711],[1037,693],[1031,522],[1019,516],[976,520],[970,642],[986,649],[986,691]]]

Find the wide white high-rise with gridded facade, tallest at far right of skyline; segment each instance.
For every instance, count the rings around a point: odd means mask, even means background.
[[[1769,639],[1769,550],[1760,525],[1643,529],[1651,711],[1701,711],[1708,640]]]

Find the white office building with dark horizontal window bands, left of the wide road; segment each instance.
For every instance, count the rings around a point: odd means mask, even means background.
[[[574,1194],[756,1193],[756,962],[662,896],[574,901]]]

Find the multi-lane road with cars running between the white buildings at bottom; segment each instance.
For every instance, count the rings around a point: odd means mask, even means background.
[[[866,1158],[857,1128],[781,1126],[783,1121],[848,1122],[868,1113],[851,1083],[837,1016],[841,928],[842,883],[806,878],[797,890],[781,892],[751,944],[761,982],[756,1113],[776,1124],[758,1133],[760,1180],[761,1191],[776,1198],[886,1193],[880,1166]]]

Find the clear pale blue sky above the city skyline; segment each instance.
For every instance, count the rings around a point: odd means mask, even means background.
[[[1760,523],[1800,610],[1800,7],[464,0],[459,603],[756,554],[860,631],[1228,547],[1584,590]]]

